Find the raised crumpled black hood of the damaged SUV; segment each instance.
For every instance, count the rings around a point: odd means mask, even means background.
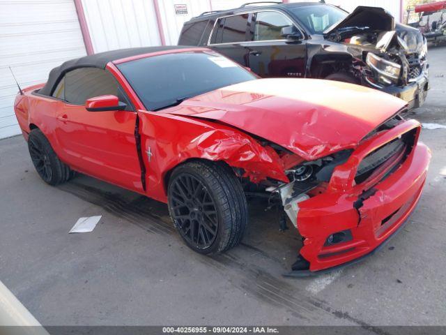
[[[346,27],[369,27],[371,30],[392,31],[395,29],[395,22],[392,14],[383,8],[357,6],[344,20],[328,27],[323,33],[332,34],[337,29]]]

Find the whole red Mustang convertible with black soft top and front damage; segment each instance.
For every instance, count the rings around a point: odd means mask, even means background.
[[[354,84],[259,79],[201,47],[67,61],[15,100],[48,184],[77,171],[166,202],[203,254],[236,246],[245,192],[266,195],[302,235],[296,276],[373,253],[415,208],[430,151],[405,108]]]

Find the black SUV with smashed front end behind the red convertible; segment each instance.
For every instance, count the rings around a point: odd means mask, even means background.
[[[261,77],[352,82],[402,98],[410,108],[424,103],[426,39],[383,8],[358,6],[348,14],[316,2],[251,5],[192,18],[178,44],[206,45]]]

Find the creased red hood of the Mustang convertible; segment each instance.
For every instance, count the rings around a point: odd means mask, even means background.
[[[220,121],[312,161],[356,147],[404,105],[359,85],[270,78],[210,91],[163,112]]]

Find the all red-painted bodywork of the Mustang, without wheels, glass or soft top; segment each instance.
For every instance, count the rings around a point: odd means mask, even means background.
[[[115,63],[123,61],[129,59]],[[254,182],[268,177],[287,183],[286,168],[354,149],[348,161],[334,170],[323,193],[298,204],[298,229],[305,237],[300,252],[312,271],[373,251],[399,228],[420,198],[430,153],[417,138],[414,149],[390,177],[383,179],[378,171],[362,184],[354,182],[357,166],[367,154],[408,131],[420,131],[417,121],[404,121],[363,140],[404,107],[403,101],[390,95],[325,80],[265,79],[150,112],[114,64],[109,63],[107,70],[123,87],[134,112],[87,112],[83,105],[33,94],[41,85],[29,87],[15,101],[24,137],[38,127],[59,158],[74,170],[162,202],[167,202],[169,173],[191,159],[224,161],[243,169]],[[279,156],[256,137],[294,154]],[[141,164],[146,170],[145,189]],[[371,187],[376,193],[355,209],[354,202]],[[351,241],[324,246],[330,234],[346,229],[352,231]]]

